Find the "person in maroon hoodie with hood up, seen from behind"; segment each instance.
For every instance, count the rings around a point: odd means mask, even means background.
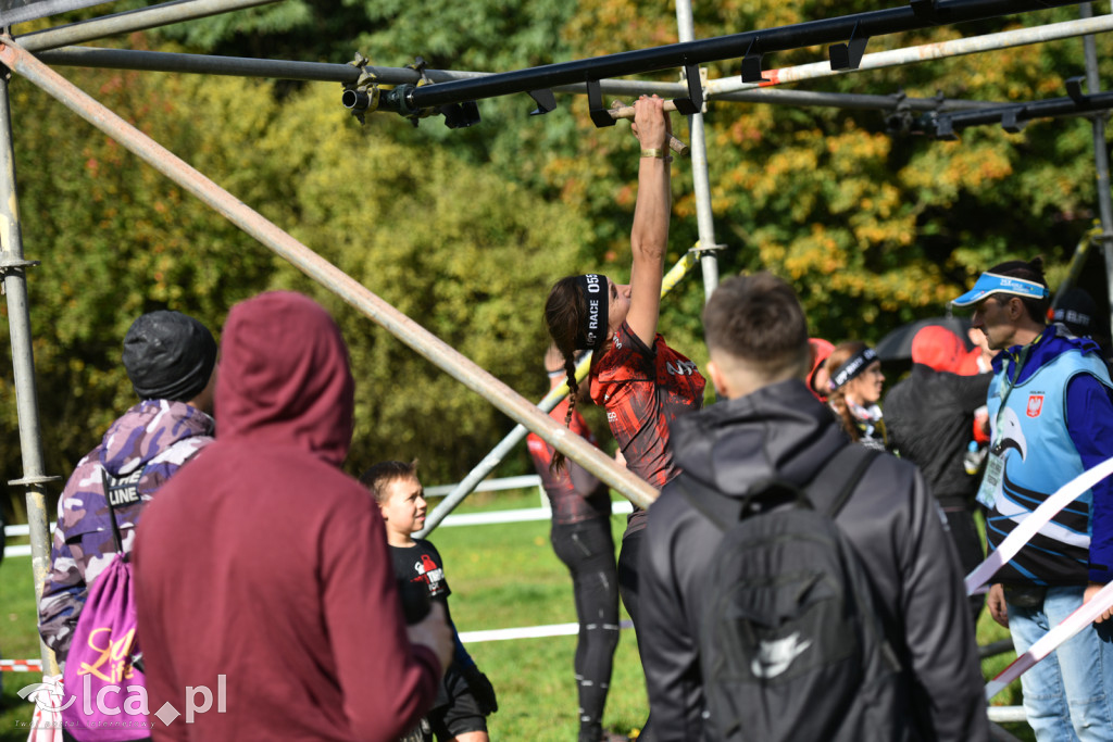
[[[432,705],[452,633],[440,606],[405,625],[378,507],[339,469],[339,329],[267,293],[233,307],[220,354],[216,441],[136,538],[155,739],[396,739]]]

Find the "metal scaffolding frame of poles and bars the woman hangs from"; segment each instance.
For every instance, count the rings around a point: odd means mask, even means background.
[[[267,4],[274,1],[276,0],[180,0],[98,18],[83,23],[29,33],[21,36],[18,40],[13,40],[10,36],[3,36],[0,37],[0,62],[46,90],[95,127],[117,139],[127,149],[226,216],[266,247],[381,324],[416,353],[479,393],[515,419],[523,428],[540,435],[546,443],[582,464],[636,505],[648,506],[657,494],[648,484],[624,468],[617,466],[609,457],[579,436],[570,435],[564,427],[553,422],[543,409],[518,395],[513,389],[430,334],[411,318],[398,313],[338,268],[315,255],[275,225],[266,221],[215,182],[151,141],[47,67],[48,63],[81,65],[118,69],[328,80],[345,83],[358,81],[362,72],[351,65],[167,55],[164,52],[89,49],[71,46],[109,34],[155,28],[170,22]],[[876,55],[864,53],[866,40],[870,36],[1071,4],[1082,6],[1084,17],[1082,21],[1022,29],[1017,32],[1005,32],[1005,34],[989,34],[975,40],[959,39],[954,42],[929,44],[930,48],[913,48],[912,50],[896,50]],[[689,0],[679,0],[677,17],[681,41],[668,47],[623,52],[595,60],[551,65],[516,72],[482,73],[426,70],[426,75],[434,85],[421,88],[416,87],[418,73],[415,70],[370,67],[365,69],[372,70],[378,77],[380,82],[398,87],[400,92],[396,93],[396,98],[403,113],[412,113],[415,109],[445,103],[473,101],[482,97],[503,96],[512,92],[536,92],[541,88],[552,88],[560,92],[588,92],[589,98],[592,97],[592,93],[598,96],[600,91],[614,95],[658,92],[664,96],[689,96],[689,102],[699,96],[700,102],[705,98],[720,98],[743,102],[780,102],[843,108],[897,109],[903,107],[904,110],[961,111],[986,108],[996,103],[991,101],[909,99],[900,93],[893,96],[844,96],[755,88],[814,79],[826,75],[840,75],[856,69],[876,69],[885,66],[914,63],[939,59],[944,56],[975,53],[1006,46],[1036,43],[1113,29],[1111,17],[1091,18],[1089,9],[1089,2],[1080,3],[1078,0],[910,0],[908,6],[888,11],[859,13],[838,19],[811,21],[779,29],[696,41],[691,38],[690,2]],[[1015,36],[1006,38],[1009,33]],[[993,38],[991,39],[991,37]],[[839,43],[843,41],[846,43]],[[835,43],[835,48],[830,52],[831,63],[820,62],[782,70],[761,71],[760,62],[764,53],[829,42]],[[966,42],[966,46],[964,47],[962,42]],[[952,48],[940,52],[940,49],[946,44],[952,44]],[[39,58],[32,55],[32,51],[38,52]],[[1087,41],[1086,53],[1089,89],[1097,91],[1096,59],[1092,39]],[[700,62],[732,58],[742,58],[743,77],[747,79],[742,81],[735,79],[711,81],[706,86],[698,81],[698,65]],[[680,83],[603,79],[672,67],[683,69],[689,79]],[[764,77],[765,75],[769,77]],[[26,275],[27,267],[36,264],[23,258],[9,106],[8,81],[0,78],[0,248],[2,248],[0,269],[3,271],[3,288],[8,303],[23,464],[22,478],[9,484],[27,487],[32,567],[38,595],[49,567],[50,550],[45,485],[58,477],[48,476],[43,472]],[[699,244],[695,251],[700,257],[705,271],[705,291],[709,295],[718,283],[718,269],[713,256],[717,246],[710,212],[702,113],[700,107],[695,106],[693,109],[687,111],[687,115],[690,119],[692,133],[693,174],[696,174],[693,178],[699,202]],[[1113,265],[1113,251],[1111,251],[1113,206],[1111,206],[1109,198],[1104,119],[1100,116],[1091,118],[1094,121],[1095,150],[1099,149],[1097,141],[1101,142],[1100,151],[1095,151],[1095,157],[1099,159],[1099,184],[1100,190],[1102,190],[1100,194],[1102,244],[1106,265],[1110,266]],[[595,119],[594,116],[593,119]],[[595,119],[595,121],[601,123],[600,119]],[[1113,296],[1113,273],[1111,273],[1110,287],[1111,296]],[[57,666],[53,664],[52,653],[46,646],[42,647],[42,656],[45,672],[51,674],[51,670],[56,671]]]

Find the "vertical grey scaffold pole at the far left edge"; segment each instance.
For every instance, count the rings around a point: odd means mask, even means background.
[[[36,265],[23,259],[23,236],[19,224],[16,194],[16,152],[12,146],[11,107],[8,96],[8,70],[0,69],[0,270],[8,299],[8,327],[11,333],[11,365],[16,380],[16,408],[19,413],[19,448],[23,478],[11,486],[27,487],[27,522],[31,535],[31,570],[35,596],[42,595],[42,584],[50,568],[50,533],[47,496],[43,485],[58,477],[43,473],[42,436],[39,403],[35,389],[35,356],[31,350],[31,316],[27,303],[27,268]],[[38,602],[38,600],[36,600]],[[58,674],[55,655],[41,643],[42,671]]]

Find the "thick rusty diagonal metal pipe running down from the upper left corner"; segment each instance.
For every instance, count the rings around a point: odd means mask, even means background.
[[[288,260],[309,278],[327,287],[344,301],[378,323],[418,355],[480,394],[515,422],[540,435],[551,446],[578,462],[633,504],[639,507],[649,507],[657,498],[657,491],[644,481],[615,465],[601,451],[559,425],[506,384],[93,100],[36,59],[30,52],[18,47],[10,37],[0,37],[0,63],[38,86],[86,121],[112,137],[126,149]]]

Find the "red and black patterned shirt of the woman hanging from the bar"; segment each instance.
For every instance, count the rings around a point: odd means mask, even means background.
[[[660,333],[648,348],[627,323],[591,370],[591,398],[607,409],[627,468],[657,489],[680,473],[669,425],[703,406],[706,384],[696,364],[666,345]]]

